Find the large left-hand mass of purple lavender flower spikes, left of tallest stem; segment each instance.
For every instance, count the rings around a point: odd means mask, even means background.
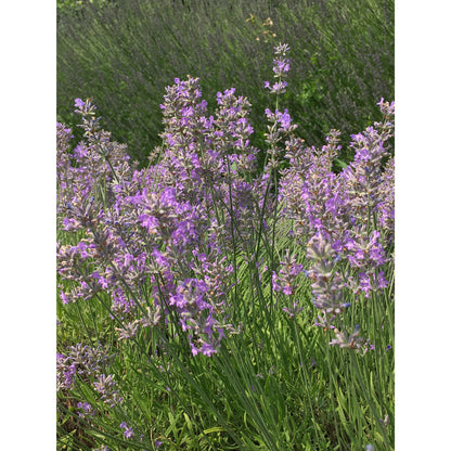
[[[73,154],[70,131],[57,126],[59,220],[82,232],[77,244],[57,245],[60,296],[67,304],[107,293],[120,340],[177,321],[193,355],[211,356],[235,331],[228,255],[237,243],[253,247],[273,198],[265,176],[253,177],[249,102],[234,89],[217,102],[207,116],[198,79],[176,79],[162,104],[159,163],[142,170],[109,142],[90,100],[76,100],[87,141]]]

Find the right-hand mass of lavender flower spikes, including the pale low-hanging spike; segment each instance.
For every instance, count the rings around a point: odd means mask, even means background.
[[[395,106],[384,99],[379,106],[384,120],[351,137],[355,159],[339,173],[333,171],[340,151],[338,131],[331,131],[321,150],[305,149],[300,139],[286,141],[291,165],[280,183],[283,215],[294,221],[299,244],[310,237],[307,257],[312,265],[306,275],[312,281],[313,306],[321,312],[315,324],[334,330],[331,345],[342,348],[361,347],[358,330],[348,337],[334,325],[350,305],[344,301],[345,291],[370,297],[384,289],[384,269],[392,258],[395,162],[389,138]]]

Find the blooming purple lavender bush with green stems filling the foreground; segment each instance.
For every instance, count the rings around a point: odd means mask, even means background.
[[[262,172],[249,101],[210,114],[193,77],[143,169],[92,100],[75,146],[57,124],[62,449],[392,449],[394,104],[336,173],[339,132],[295,136],[274,52]]]

